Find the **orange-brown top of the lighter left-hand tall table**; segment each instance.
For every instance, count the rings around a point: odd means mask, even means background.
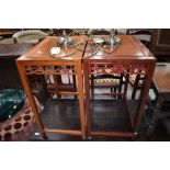
[[[73,36],[73,41],[80,41],[81,36]],[[57,36],[48,36],[37,45],[35,45],[31,50],[29,50],[26,54],[18,58],[18,61],[56,61],[61,60],[58,58],[55,58],[50,55],[52,47],[57,47],[57,41],[59,37]],[[86,44],[81,45],[81,49],[84,49]],[[61,55],[70,54],[72,50],[71,47],[63,47]],[[78,59],[81,60],[81,57],[83,55],[83,50],[76,50],[73,55],[66,57],[66,59]],[[63,59],[65,60],[65,59]]]

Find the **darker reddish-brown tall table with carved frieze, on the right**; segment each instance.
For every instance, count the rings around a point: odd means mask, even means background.
[[[150,88],[152,73],[156,65],[156,58],[154,55],[138,41],[135,36],[120,35],[122,39],[121,46],[113,53],[103,50],[100,48],[99,52],[83,60],[84,69],[84,87],[86,87],[86,122],[88,136],[104,135],[104,136],[124,136],[133,137],[137,135],[141,116],[144,113],[145,102]],[[86,54],[84,54],[86,55]],[[102,132],[92,131],[91,128],[91,110],[90,110],[90,79],[92,76],[98,75],[121,75],[128,76],[129,73],[143,73],[146,76],[144,80],[144,88],[139,99],[137,107],[137,114],[135,118],[131,118],[132,131],[131,132]],[[126,81],[124,92],[121,94],[125,101],[127,92],[128,79]],[[126,106],[127,112],[129,107]],[[129,113],[129,112],[128,112]],[[104,114],[104,113],[103,113]]]

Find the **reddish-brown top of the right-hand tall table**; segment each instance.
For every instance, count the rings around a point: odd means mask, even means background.
[[[154,55],[147,49],[140,41],[132,35],[118,35],[121,38],[121,45],[113,52],[106,53],[100,49],[95,55],[86,58],[87,60],[109,60],[109,59],[118,59],[118,60],[156,60]]]

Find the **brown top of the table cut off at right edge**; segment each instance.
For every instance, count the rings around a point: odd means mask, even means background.
[[[159,93],[170,92],[170,64],[157,64],[152,80]]]

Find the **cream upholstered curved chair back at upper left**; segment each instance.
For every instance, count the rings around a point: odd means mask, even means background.
[[[12,38],[14,43],[31,43],[31,44],[36,44],[41,39],[47,37],[48,34],[44,33],[39,30],[26,30],[26,31],[21,31],[15,34],[13,34]]]

